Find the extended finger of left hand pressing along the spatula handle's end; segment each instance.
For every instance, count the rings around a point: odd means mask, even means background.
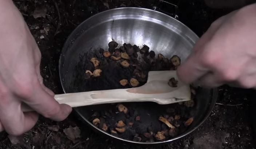
[[[72,108],[66,104],[59,104],[51,95],[49,95],[37,82],[34,86],[33,95],[24,102],[46,118],[55,121],[62,121],[71,113]]]

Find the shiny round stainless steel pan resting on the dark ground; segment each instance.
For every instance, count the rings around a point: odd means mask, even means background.
[[[104,80],[96,80],[95,84],[83,82],[84,71],[87,67],[85,59],[92,56],[95,49],[108,49],[108,42],[115,39],[117,43],[131,43],[137,46],[146,44],[156,53],[167,57],[179,55],[181,63],[191,53],[193,45],[198,37],[187,26],[176,19],[154,10],[143,8],[117,8],[101,12],[81,23],[67,39],[59,63],[60,78],[65,93],[79,91],[114,89],[117,86]],[[111,68],[110,68],[111,69]],[[110,70],[109,78],[117,72]],[[189,74],[188,74],[189,75]],[[113,80],[112,79],[112,80]],[[197,92],[197,104],[194,112],[194,122],[179,136],[170,140],[159,142],[135,142],[121,139],[106,133],[95,127],[90,121],[94,111],[109,110],[110,104],[78,107],[74,110],[80,118],[88,123],[95,131],[105,134],[117,140],[136,144],[162,144],[172,142],[188,135],[199,127],[211,113],[217,98],[216,89],[200,89]],[[150,124],[156,124],[158,117],[165,107],[174,105],[158,105],[156,103],[125,103],[144,116],[144,123],[139,125],[141,131],[147,129]],[[120,119],[116,118],[116,119]]]

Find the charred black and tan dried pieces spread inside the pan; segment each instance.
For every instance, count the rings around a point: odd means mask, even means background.
[[[117,48],[117,43],[113,40],[109,43],[109,49],[89,50],[80,55],[75,67],[74,91],[141,86],[146,83],[149,71],[175,70],[179,64],[180,58],[176,55],[165,58],[150,50],[147,45],[139,48],[124,43]],[[95,70],[100,70],[99,75],[90,73]],[[88,120],[98,128],[123,139],[163,141],[184,132],[193,122],[194,105],[195,101],[191,100],[161,105],[161,109],[157,108],[156,103],[116,103],[99,109],[91,106]]]

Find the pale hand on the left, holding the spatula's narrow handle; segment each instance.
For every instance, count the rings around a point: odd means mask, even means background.
[[[60,105],[40,75],[41,53],[12,0],[0,1],[0,132],[21,135],[38,114],[61,121],[72,108]],[[26,103],[36,112],[23,112]]]

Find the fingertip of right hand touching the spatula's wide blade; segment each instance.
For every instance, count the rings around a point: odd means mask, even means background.
[[[198,52],[192,53],[187,61],[177,68],[177,76],[182,82],[190,84],[208,73],[209,70],[201,65],[199,58]]]

